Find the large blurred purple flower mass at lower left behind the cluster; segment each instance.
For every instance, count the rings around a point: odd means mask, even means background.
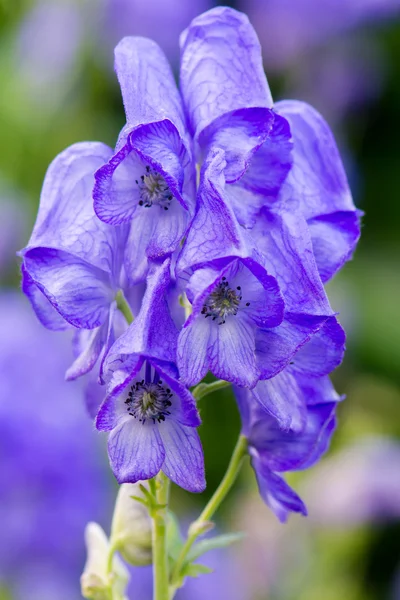
[[[101,452],[81,387],[64,381],[63,334],[13,292],[0,296],[0,327],[0,582],[18,600],[75,600],[84,527],[110,508]]]

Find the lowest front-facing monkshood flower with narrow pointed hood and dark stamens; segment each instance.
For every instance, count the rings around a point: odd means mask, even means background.
[[[174,365],[178,332],[166,299],[169,272],[169,259],[154,265],[139,315],[110,348],[109,393],[96,427],[110,432],[108,453],[119,483],[150,479],[162,470],[177,485],[200,492],[200,418]]]

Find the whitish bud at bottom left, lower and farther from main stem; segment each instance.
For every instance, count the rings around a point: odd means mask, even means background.
[[[90,600],[110,600],[124,597],[129,575],[122,561],[114,556],[109,572],[110,543],[103,529],[97,523],[88,523],[85,529],[87,559],[81,575],[81,591]]]

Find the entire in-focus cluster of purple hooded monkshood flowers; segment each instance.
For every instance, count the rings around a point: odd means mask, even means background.
[[[235,386],[283,520],[305,507],[280,473],[317,461],[334,429],[344,332],[323,284],[360,215],[326,122],[273,103],[245,15],[212,9],[180,43],[180,91],[154,42],[116,47],[126,125],[115,150],[83,142],[51,164],[23,290],[45,326],[75,330],[67,377],[99,373],[96,427],[119,482],[162,470],[204,489],[189,388],[211,372]]]

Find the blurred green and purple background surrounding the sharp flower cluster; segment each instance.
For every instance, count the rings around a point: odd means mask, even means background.
[[[331,450],[290,480],[310,516],[279,524],[248,465],[218,515],[246,532],[182,600],[400,599],[400,0],[237,0],[263,46],[276,100],[312,103],[340,146],[364,210],[355,259],[329,284],[348,334],[334,375],[347,395]],[[124,124],[112,50],[154,38],[178,70],[178,36],[210,0],[0,0],[0,599],[75,600],[88,520],[109,531],[116,486],[82,387],[64,383],[70,340],[19,292],[49,162],[69,144],[113,146]],[[229,392],[202,401],[208,488],[174,489],[196,515],[229,460],[239,418]],[[204,562],[207,563],[207,560]],[[133,600],[150,598],[134,569]]]

